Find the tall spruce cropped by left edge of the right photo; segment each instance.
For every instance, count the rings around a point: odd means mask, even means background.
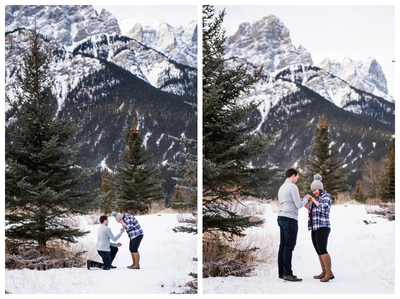
[[[227,239],[258,225],[229,210],[246,196],[264,198],[265,185],[278,175],[268,176],[272,165],[251,167],[250,163],[275,140],[275,135],[254,134],[257,123],[247,119],[259,103],[239,105],[241,95],[259,80],[239,66],[228,69],[223,60],[225,42],[221,29],[225,12],[214,18],[212,6],[203,6],[202,18],[202,187],[203,233],[222,234]]]

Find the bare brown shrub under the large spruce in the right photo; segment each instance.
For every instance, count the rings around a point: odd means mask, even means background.
[[[239,248],[237,244],[229,243],[223,238],[205,237],[202,247],[203,278],[245,276],[256,268],[251,262],[256,249],[256,247]]]

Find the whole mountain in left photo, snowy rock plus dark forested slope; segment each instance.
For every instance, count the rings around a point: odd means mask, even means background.
[[[154,22],[163,25],[152,29],[152,40],[148,24]],[[134,117],[143,146],[163,167],[169,192],[174,182],[165,175],[168,162],[185,150],[169,136],[196,139],[196,113],[184,102],[197,101],[197,27],[170,27],[149,16],[123,26],[133,29],[130,36],[121,33],[109,12],[98,14],[92,6],[6,6],[5,92],[12,98],[12,83],[36,28],[43,49],[53,55],[49,75],[55,76],[59,115],[85,119],[76,137],[86,157],[82,166],[113,169]],[[12,115],[5,110],[7,122]],[[96,175],[93,184],[100,180]]]

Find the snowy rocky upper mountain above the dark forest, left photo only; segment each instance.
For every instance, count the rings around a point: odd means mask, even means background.
[[[150,19],[154,21],[153,18]],[[144,17],[141,21],[146,20]],[[165,24],[162,21],[159,23]],[[46,46],[57,49],[59,55],[52,68],[58,75],[61,71],[57,80],[58,94],[65,95],[66,86],[73,88],[83,73],[87,75],[98,70],[99,59],[105,59],[163,91],[190,97],[196,95],[197,91],[190,83],[196,76],[195,69],[183,62],[196,61],[197,46],[193,47],[193,43],[179,43],[175,48],[184,46],[182,51],[168,51],[168,48],[159,47],[153,49],[151,46],[156,45],[150,40],[147,45],[147,39],[137,41],[121,35],[115,17],[105,10],[98,15],[91,6],[6,6],[5,31],[8,34],[5,47],[15,47],[13,51],[5,53],[6,91],[9,90],[9,83],[15,79],[13,75],[19,67],[15,62],[28,50],[29,39],[16,32],[16,29],[33,30],[35,24],[45,37]],[[131,30],[132,36],[142,32],[138,23],[135,26],[138,27],[138,33]],[[167,27],[166,24],[165,26]],[[195,32],[196,28],[192,28],[191,35]],[[154,30],[154,35],[160,40],[164,40],[162,37],[167,34],[163,32],[163,28]],[[174,34],[176,40],[186,41],[186,30],[174,30]],[[196,42],[197,38],[195,45]],[[187,58],[186,52],[190,54]],[[179,56],[180,61],[177,61]]]

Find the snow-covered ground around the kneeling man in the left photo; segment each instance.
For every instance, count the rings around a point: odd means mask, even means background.
[[[183,225],[179,214],[159,213],[137,216],[144,237],[140,243],[140,269],[126,266],[132,263],[129,239],[124,232],[117,242],[122,243],[113,261],[115,269],[62,268],[38,270],[5,270],[5,289],[13,294],[32,293],[82,293],[82,294],[169,294],[188,289],[184,284],[197,273],[197,235],[172,231]],[[189,217],[190,214],[186,214]],[[88,225],[81,217],[83,230],[90,233],[80,240],[87,247],[95,247],[100,224]],[[114,217],[109,217],[108,226],[116,235],[121,228]],[[95,251],[94,251],[95,252]],[[101,262],[98,254],[94,260]],[[200,275],[201,276],[201,275]]]

